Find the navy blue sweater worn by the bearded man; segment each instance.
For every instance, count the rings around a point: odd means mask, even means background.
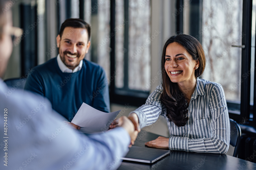
[[[110,112],[106,73],[98,64],[83,59],[80,71],[63,73],[57,57],[33,68],[26,90],[45,96],[52,108],[71,121],[82,103]]]

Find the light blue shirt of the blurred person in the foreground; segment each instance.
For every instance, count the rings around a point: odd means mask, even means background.
[[[0,79],[0,169],[119,167],[131,141],[123,127],[86,136],[63,120],[47,99],[11,89]]]

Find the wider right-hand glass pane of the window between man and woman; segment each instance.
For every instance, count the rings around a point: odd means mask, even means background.
[[[146,3],[145,3],[146,2]],[[129,88],[149,90],[151,5],[150,1],[129,1]]]

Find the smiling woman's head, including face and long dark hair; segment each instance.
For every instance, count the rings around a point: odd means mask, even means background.
[[[162,86],[165,90],[161,101],[166,106],[167,117],[177,126],[184,126],[188,120],[187,108],[196,78],[204,69],[204,50],[196,38],[180,34],[166,41],[162,54]]]

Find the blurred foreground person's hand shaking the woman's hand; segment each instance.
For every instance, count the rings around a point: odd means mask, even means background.
[[[115,124],[115,127],[121,126],[125,128],[125,130],[129,133],[131,137],[131,144],[129,147],[134,145],[134,141],[137,138],[138,131],[135,130],[133,123],[126,116],[122,116],[119,119],[114,120],[113,122]]]

